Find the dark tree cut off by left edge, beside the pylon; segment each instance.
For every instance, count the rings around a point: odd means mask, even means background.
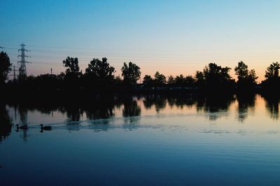
[[[0,53],[0,84],[5,83],[8,79],[8,73],[12,70],[12,64],[10,63],[10,58],[6,52]]]

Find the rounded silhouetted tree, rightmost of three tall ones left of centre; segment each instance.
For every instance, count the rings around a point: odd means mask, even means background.
[[[124,63],[121,70],[122,70],[123,82],[126,85],[137,84],[137,80],[140,79],[140,75],[141,75],[139,66],[133,64],[132,62],[129,62],[128,65]]]

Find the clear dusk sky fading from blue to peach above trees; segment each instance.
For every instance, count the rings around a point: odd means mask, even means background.
[[[280,1],[21,1],[0,0],[0,46],[18,65],[23,42],[29,75],[60,73],[78,57],[84,72],[107,57],[121,74],[134,62],[142,78],[155,71],[195,75],[209,62],[234,68],[244,61],[258,81],[280,62]]]

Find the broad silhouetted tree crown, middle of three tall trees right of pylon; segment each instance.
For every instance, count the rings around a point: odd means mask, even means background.
[[[110,66],[106,57],[103,57],[102,61],[98,58],[94,58],[90,64],[88,64],[85,73],[97,82],[108,82],[113,80],[115,68]]]

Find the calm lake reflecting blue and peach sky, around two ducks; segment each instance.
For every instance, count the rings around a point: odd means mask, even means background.
[[[0,121],[3,186],[280,185],[279,99],[258,94],[5,103]]]

